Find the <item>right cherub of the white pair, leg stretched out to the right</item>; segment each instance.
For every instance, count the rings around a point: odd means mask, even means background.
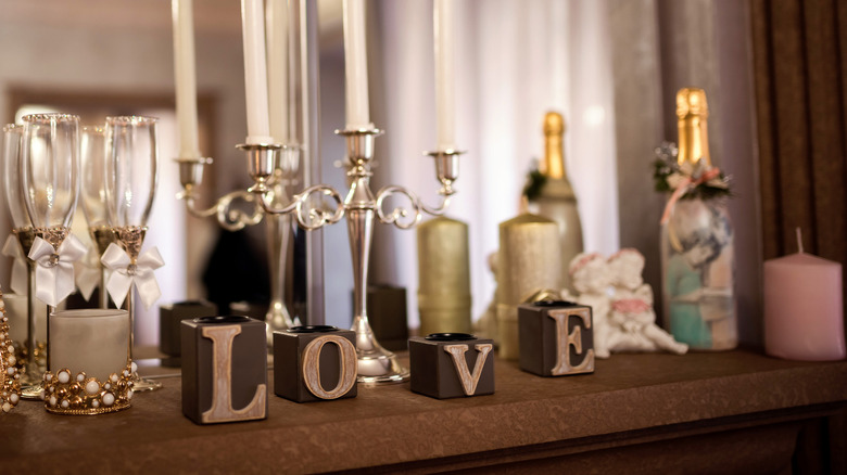
[[[615,294],[609,310],[608,348],[611,351],[655,351],[684,355],[688,345],[679,343],[656,325],[653,290],[642,278],[644,256],[621,249],[608,259]]]

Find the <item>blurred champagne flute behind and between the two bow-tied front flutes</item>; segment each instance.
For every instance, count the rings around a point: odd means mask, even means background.
[[[109,226],[105,197],[105,128],[102,126],[83,127],[80,133],[80,155],[83,163],[81,189],[79,190],[83,214],[88,222],[88,232],[97,246],[98,255],[105,253],[109,244],[115,241]],[[106,268],[100,266],[100,308],[109,308],[106,292]]]

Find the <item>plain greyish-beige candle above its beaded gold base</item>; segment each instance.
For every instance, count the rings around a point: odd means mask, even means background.
[[[129,314],[126,310],[87,308],[50,316],[50,370],[85,372],[105,381],[126,368]]]

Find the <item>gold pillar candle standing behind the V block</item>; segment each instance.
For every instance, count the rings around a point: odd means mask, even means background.
[[[468,224],[438,217],[418,232],[418,334],[470,333]]]

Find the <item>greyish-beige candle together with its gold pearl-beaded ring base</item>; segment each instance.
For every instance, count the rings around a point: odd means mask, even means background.
[[[129,408],[129,314],[117,309],[81,309],[50,314],[45,407],[54,414],[102,414]]]

